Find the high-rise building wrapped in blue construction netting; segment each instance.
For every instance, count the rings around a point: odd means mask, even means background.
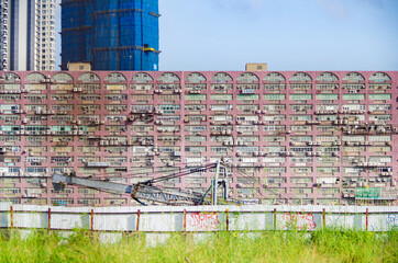
[[[62,1],[62,68],[158,69],[158,0]]]

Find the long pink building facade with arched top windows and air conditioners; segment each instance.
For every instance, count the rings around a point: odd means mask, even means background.
[[[136,183],[222,159],[230,197],[397,198],[397,71],[2,72],[0,198],[130,205],[54,173]],[[214,171],[163,183],[204,192]],[[372,191],[373,197],[366,193]]]

